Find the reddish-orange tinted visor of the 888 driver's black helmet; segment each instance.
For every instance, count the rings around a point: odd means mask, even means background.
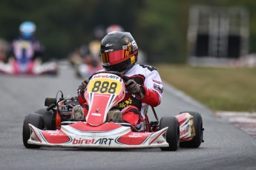
[[[128,50],[117,50],[112,52],[102,52],[102,64],[110,65],[116,64],[118,61],[123,61],[122,59],[127,58],[129,56]]]

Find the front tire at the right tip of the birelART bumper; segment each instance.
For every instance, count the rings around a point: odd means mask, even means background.
[[[168,126],[165,139],[169,143],[168,147],[161,147],[162,151],[177,151],[180,143],[180,126],[177,118],[163,117],[160,120],[160,129]]]

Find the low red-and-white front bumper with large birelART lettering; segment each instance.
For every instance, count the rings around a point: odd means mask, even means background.
[[[44,131],[29,124],[32,134],[27,143],[40,146],[61,146],[81,148],[148,148],[168,147],[163,135],[168,127],[158,132],[131,132],[128,126],[110,122],[91,126],[77,122],[62,126],[60,130]]]

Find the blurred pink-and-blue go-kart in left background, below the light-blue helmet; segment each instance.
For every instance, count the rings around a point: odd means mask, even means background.
[[[35,51],[30,41],[17,41],[13,50],[13,58],[7,63],[0,61],[0,72],[7,75],[56,75],[56,62],[42,63],[41,60],[32,60]]]

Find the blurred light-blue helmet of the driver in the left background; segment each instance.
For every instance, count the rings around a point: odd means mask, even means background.
[[[23,38],[29,39],[33,36],[33,34],[36,31],[36,24],[34,24],[31,21],[24,21],[20,26],[19,26],[19,31],[22,35]]]

